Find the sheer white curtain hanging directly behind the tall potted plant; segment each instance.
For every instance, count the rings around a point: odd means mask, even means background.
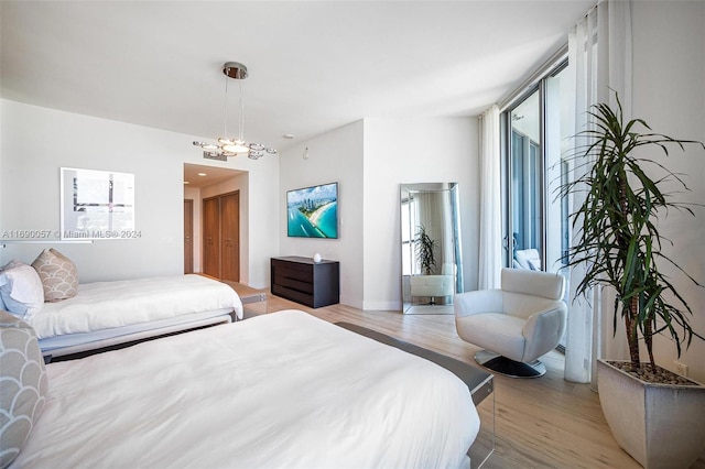
[[[588,129],[590,106],[616,103],[619,94],[625,118],[631,114],[631,4],[630,1],[600,1],[568,34],[570,77],[575,86],[574,131]],[[576,146],[585,140],[575,139]],[[577,171],[573,168],[574,177]],[[571,212],[582,204],[572,196]],[[579,226],[579,223],[577,223]],[[576,239],[577,233],[572,233]],[[565,345],[565,379],[595,385],[596,359],[605,356],[603,338],[611,337],[612,299],[594,291],[588,298],[575,298],[575,287],[584,275],[575,268],[570,276],[568,324]],[[605,297],[604,297],[605,296]]]

